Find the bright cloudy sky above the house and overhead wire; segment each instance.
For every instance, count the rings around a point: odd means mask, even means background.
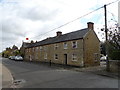
[[[0,52],[6,47],[20,47],[26,38],[40,41],[87,28],[94,23],[100,41],[104,40],[104,8],[82,17],[62,28],[51,31],[115,0],[0,0]],[[107,19],[118,21],[118,2],[107,6]],[[113,21],[114,20],[114,21]],[[110,24],[111,25],[111,24]],[[51,32],[49,32],[51,31]],[[49,33],[46,33],[49,32]]]

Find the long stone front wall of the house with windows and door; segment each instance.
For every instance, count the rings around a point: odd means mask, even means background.
[[[77,48],[72,47],[72,42],[77,42]],[[25,60],[30,60],[32,57],[33,61],[42,61],[42,62],[53,62],[57,64],[65,64],[65,56],[67,54],[67,64],[74,66],[83,66],[83,39],[66,41],[67,49],[64,49],[64,43],[55,43],[44,46],[32,47],[25,49]],[[55,49],[57,44],[58,48]],[[40,49],[42,47],[42,49]],[[34,48],[34,50],[33,50]],[[45,55],[47,54],[47,58]],[[55,59],[55,54],[58,55],[58,59]],[[72,60],[72,55],[76,54],[76,60]]]

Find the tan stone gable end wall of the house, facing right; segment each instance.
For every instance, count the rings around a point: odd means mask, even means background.
[[[84,65],[100,65],[100,41],[93,30],[84,37]]]

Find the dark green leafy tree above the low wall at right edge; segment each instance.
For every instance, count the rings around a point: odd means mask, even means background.
[[[120,60],[120,31],[118,29],[109,30],[108,55],[113,60]]]

